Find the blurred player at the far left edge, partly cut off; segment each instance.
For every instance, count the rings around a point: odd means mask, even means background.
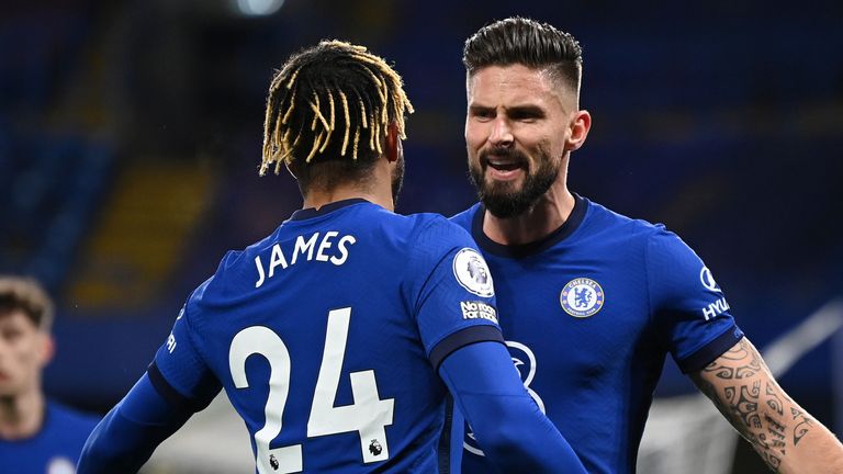
[[[0,275],[0,472],[72,474],[99,418],[42,391],[53,358],[53,303],[32,279]]]

